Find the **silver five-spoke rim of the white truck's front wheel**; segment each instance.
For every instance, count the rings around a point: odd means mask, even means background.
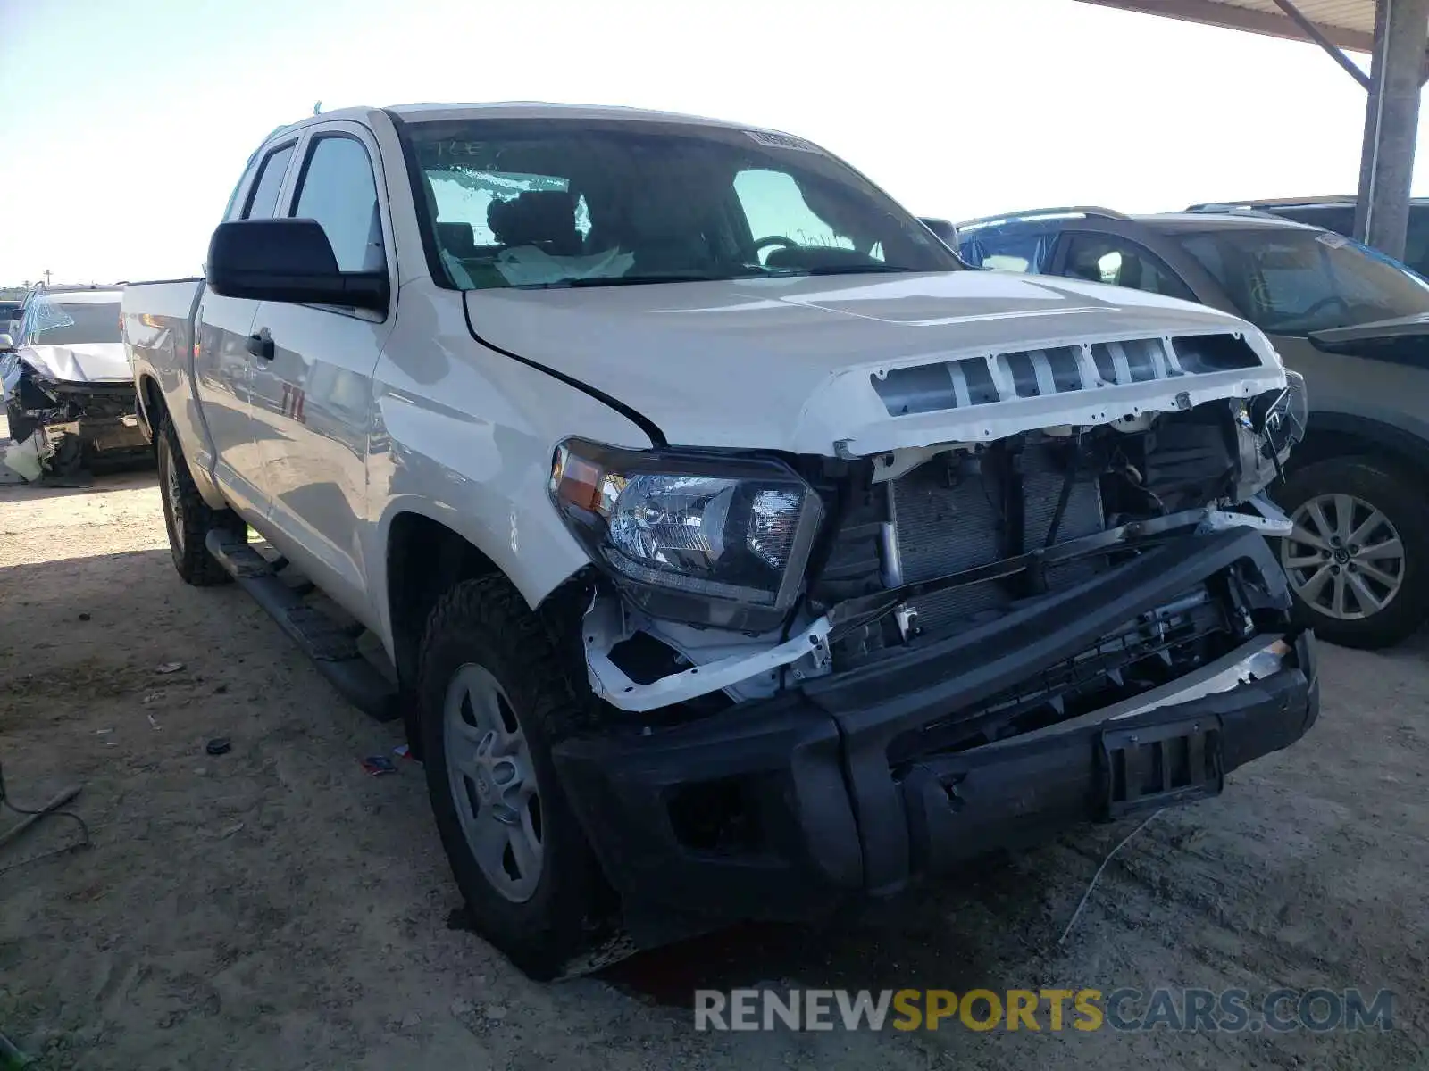
[[[526,734],[489,671],[457,670],[443,727],[452,798],[472,854],[497,892],[530,900],[544,855],[540,791]]]

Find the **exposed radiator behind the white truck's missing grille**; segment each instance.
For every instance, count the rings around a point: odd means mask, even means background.
[[[952,456],[949,456],[952,458]],[[1003,477],[995,466],[982,470],[950,467],[947,458],[915,468],[890,484],[892,513],[902,580],[913,584],[1007,557],[1003,523]],[[1063,468],[1050,447],[1032,446],[1022,453],[1023,548],[1040,547],[1052,527],[1062,494]],[[1072,487],[1057,541],[1100,531],[1102,494],[1095,477],[1083,474]],[[1055,588],[1085,577],[1095,568],[1079,563],[1052,570]],[[959,620],[996,611],[1013,598],[999,583],[943,591],[917,600],[919,625],[936,630]]]

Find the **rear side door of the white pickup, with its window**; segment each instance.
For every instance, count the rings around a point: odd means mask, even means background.
[[[272,218],[289,186],[297,139],[264,150],[229,218]],[[267,513],[263,458],[253,434],[253,368],[249,336],[259,303],[204,290],[194,326],[194,391],[214,450],[214,480],[249,520]]]

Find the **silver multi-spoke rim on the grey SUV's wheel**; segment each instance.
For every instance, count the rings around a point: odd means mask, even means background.
[[[1280,540],[1290,587],[1328,617],[1353,621],[1383,610],[1405,581],[1405,547],[1379,510],[1352,494],[1322,494],[1292,516]]]

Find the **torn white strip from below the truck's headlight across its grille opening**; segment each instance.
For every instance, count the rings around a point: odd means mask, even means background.
[[[965,574],[942,577],[935,581],[912,584],[903,588],[877,593],[865,598],[847,600],[819,617],[786,641],[777,637],[747,637],[747,654],[729,653],[732,645],[693,648],[679,643],[674,631],[662,623],[652,621],[626,608],[619,595],[599,593],[586,611],[583,637],[586,665],[594,693],[613,707],[632,713],[646,713],[660,707],[687,703],[714,691],[726,691],[736,701],[762,698],[779,690],[782,671],[796,678],[826,675],[830,671],[830,635],[839,628],[849,628],[870,617],[895,613],[912,598],[927,595],[953,587],[985,584],[1027,570],[1033,563],[1070,560],[1103,553],[1116,545],[1135,545],[1137,540],[1172,531],[1222,531],[1233,527],[1250,527],[1266,536],[1285,536],[1290,521],[1263,497],[1252,500],[1259,516],[1230,513],[1216,508],[1190,510],[1170,517],[1135,521],[1095,536],[1070,540],[1056,547],[1035,551],[1016,561],[999,561],[992,565],[969,570]],[[677,650],[679,660],[693,663],[689,668],[657,677],[649,683],[634,680],[616,664],[612,653],[637,631],[647,631],[654,638]],[[727,638],[727,637],[726,637]],[[710,657],[713,651],[714,657]],[[707,658],[697,663],[699,658]]]

